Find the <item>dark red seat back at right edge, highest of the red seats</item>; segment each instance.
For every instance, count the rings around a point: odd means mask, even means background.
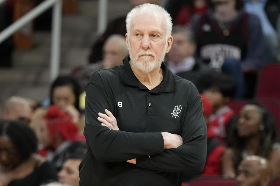
[[[256,98],[275,98],[280,101],[280,64],[266,65],[260,71]]]

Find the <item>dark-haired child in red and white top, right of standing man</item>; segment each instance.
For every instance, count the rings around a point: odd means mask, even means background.
[[[223,73],[207,73],[201,78],[202,93],[213,105],[208,132],[219,140],[228,141],[228,135],[237,121],[234,111],[227,106],[235,92],[233,78]]]

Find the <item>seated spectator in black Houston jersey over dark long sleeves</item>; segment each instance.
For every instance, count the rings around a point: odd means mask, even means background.
[[[246,87],[239,96],[253,97],[258,70],[267,64],[260,20],[243,10],[242,0],[211,0],[210,7],[191,23],[197,55],[210,67],[233,76],[239,88]],[[246,86],[240,79],[242,72]]]

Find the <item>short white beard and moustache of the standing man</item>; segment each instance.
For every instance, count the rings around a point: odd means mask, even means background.
[[[142,51],[136,54],[134,57],[132,55],[132,49],[129,44],[129,57],[130,61],[133,63],[133,65],[140,71],[142,71],[144,74],[149,74],[154,69],[160,67],[161,62],[164,60],[165,57],[165,51],[167,49],[167,44],[164,47],[164,50],[162,51],[162,54],[160,57],[156,56],[156,54],[150,50]],[[142,55],[151,55],[153,56],[154,60],[150,60],[151,56],[142,56]],[[139,57],[143,59],[142,61],[139,61]]]

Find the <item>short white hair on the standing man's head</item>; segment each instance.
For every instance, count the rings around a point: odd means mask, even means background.
[[[165,21],[166,38],[170,37],[172,32],[172,19],[170,14],[161,6],[150,3],[144,3],[136,6],[130,10],[130,12],[128,12],[125,20],[127,34],[130,35],[131,22],[132,19],[136,17],[136,15],[147,14],[151,12],[160,15],[159,17],[162,17],[162,20]]]

